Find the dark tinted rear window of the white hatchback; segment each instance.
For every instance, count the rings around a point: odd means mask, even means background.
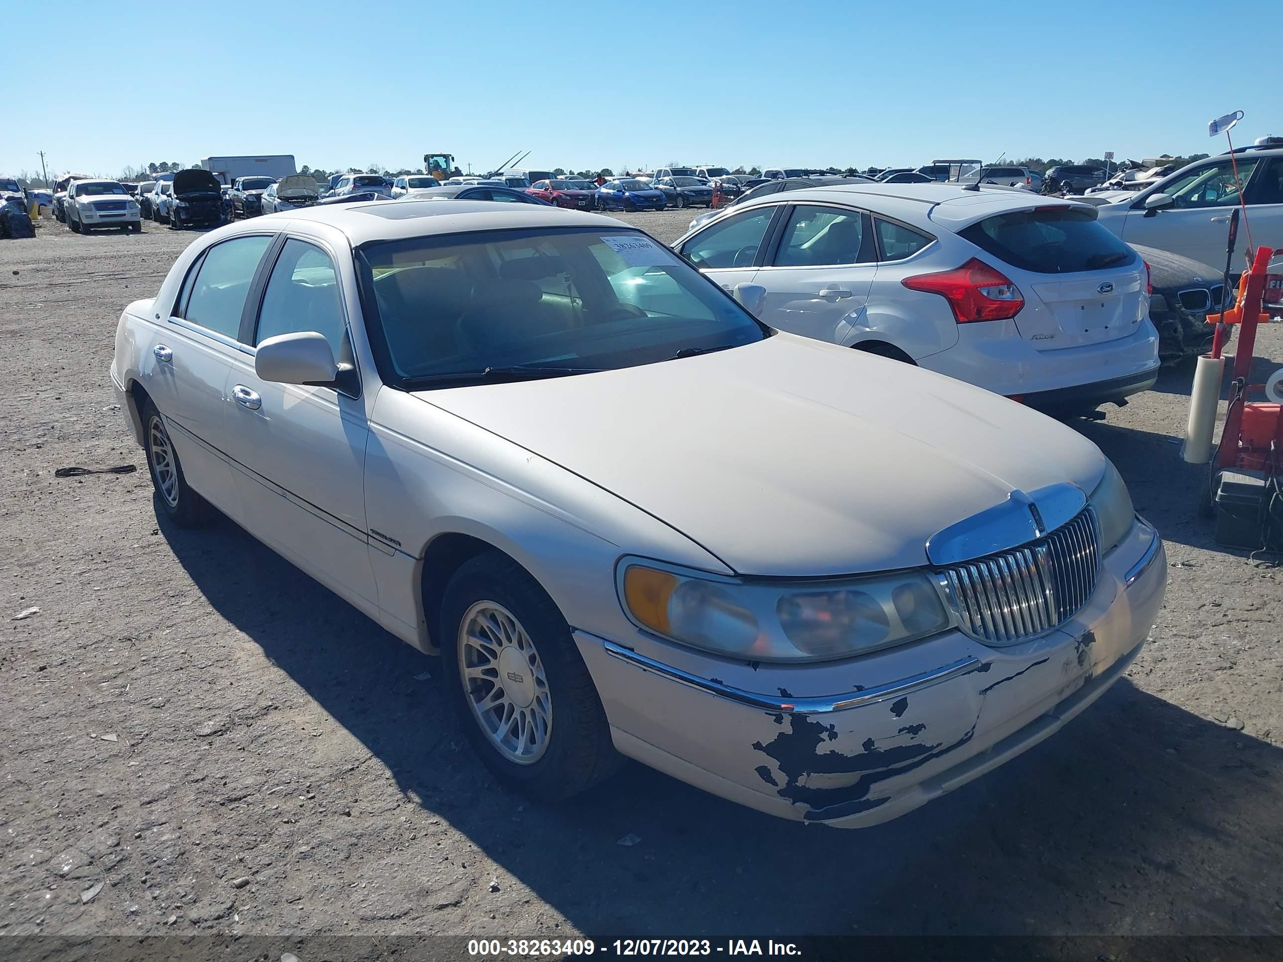
[[[958,232],[1003,263],[1041,274],[1130,264],[1137,254],[1078,207],[1042,207],[987,217]]]

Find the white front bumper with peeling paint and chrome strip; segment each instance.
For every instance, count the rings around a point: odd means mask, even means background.
[[[863,827],[998,767],[1100,698],[1144,644],[1165,584],[1162,541],[1138,519],[1078,614],[1007,648],[951,631],[847,662],[744,666],[642,632],[575,640],[624,754],[770,814]]]

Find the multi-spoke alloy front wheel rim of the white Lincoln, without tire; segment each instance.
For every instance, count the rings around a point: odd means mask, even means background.
[[[476,602],[459,621],[459,677],[472,717],[508,761],[534,764],[548,750],[552,694],[534,641],[498,602]]]

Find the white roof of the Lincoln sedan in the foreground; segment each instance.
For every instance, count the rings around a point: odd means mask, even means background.
[[[633,230],[612,217],[565,210],[544,204],[495,204],[490,200],[395,200],[309,207],[267,218],[236,221],[223,236],[262,231],[272,218],[327,226],[346,236],[352,246],[382,240],[402,240],[472,231],[520,230],[523,227],[598,227]],[[223,228],[226,230],[226,228]]]

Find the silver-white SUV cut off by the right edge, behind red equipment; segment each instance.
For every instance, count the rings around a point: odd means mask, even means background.
[[[1092,194],[1089,203],[1101,205],[1101,224],[1128,244],[1224,264],[1239,186],[1251,228],[1239,224],[1234,269],[1241,269],[1248,235],[1253,244],[1283,248],[1283,137],[1261,137],[1256,146],[1239,148],[1233,156],[1196,160],[1139,192]]]

